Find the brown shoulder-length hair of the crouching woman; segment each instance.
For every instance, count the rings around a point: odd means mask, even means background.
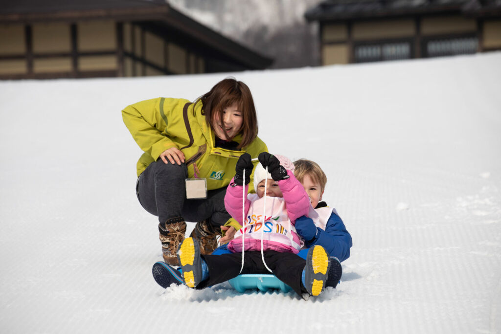
[[[233,104],[238,105],[238,110],[242,113],[242,140],[238,148],[242,148],[252,143],[258,136],[258,116],[256,115],[256,107],[250,90],[241,81],[236,81],[234,78],[226,78],[212,87],[212,89],[199,97],[198,101],[202,101],[202,115],[205,115],[205,121],[214,128],[212,124],[213,116],[219,113],[221,124],[223,123],[222,111],[224,108],[231,107]],[[228,134],[223,128],[222,131],[226,138]],[[232,139],[232,138],[229,138]]]

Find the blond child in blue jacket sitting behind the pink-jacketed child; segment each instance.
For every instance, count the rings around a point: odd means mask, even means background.
[[[320,166],[311,160],[300,159],[294,162],[294,176],[301,182],[312,208],[308,216],[296,219],[296,231],[305,240],[305,249],[298,255],[305,258],[309,248],[320,245],[325,248],[331,258],[326,286],[336,287],[342,275],[342,261],[350,257],[352,238],[346,230],[343,220],[336,209],[330,208],[322,201],[327,176]],[[226,245],[218,247],[212,254],[230,253]],[[153,265],[153,277],[162,287],[171,283],[182,284],[179,270],[164,262]]]

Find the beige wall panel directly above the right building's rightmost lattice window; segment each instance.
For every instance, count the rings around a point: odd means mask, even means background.
[[[441,35],[451,33],[474,33],[476,22],[460,16],[423,18],[421,20],[422,35]]]

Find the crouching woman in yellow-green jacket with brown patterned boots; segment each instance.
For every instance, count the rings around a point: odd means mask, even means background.
[[[199,240],[203,254],[210,254],[221,235],[219,226],[230,218],[224,195],[238,158],[243,153],[257,158],[268,151],[258,138],[250,90],[228,78],[194,103],[146,100],[126,107],[122,117],[144,151],[137,163],[136,193],[143,208],[158,216],[164,261],[179,265],[176,251],[185,221],[197,222],[191,236]],[[223,229],[234,232],[235,227]]]

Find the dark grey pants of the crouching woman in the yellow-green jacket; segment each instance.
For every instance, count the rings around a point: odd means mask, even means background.
[[[158,159],[137,180],[139,203],[146,211],[158,216],[160,223],[169,218],[183,217],[191,222],[210,218],[213,225],[223,225],[230,218],[224,207],[226,187],[207,191],[205,199],[186,199],[187,177],[185,164],[166,164]]]

